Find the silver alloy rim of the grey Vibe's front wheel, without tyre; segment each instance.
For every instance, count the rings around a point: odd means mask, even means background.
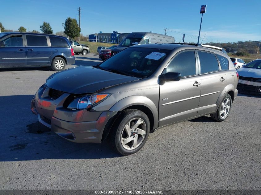
[[[137,148],[146,135],[146,124],[141,118],[130,120],[121,132],[121,144],[127,150]]]

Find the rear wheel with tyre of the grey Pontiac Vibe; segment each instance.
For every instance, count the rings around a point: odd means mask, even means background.
[[[232,105],[231,96],[229,94],[226,94],[224,99],[219,104],[217,112],[215,114],[210,114],[210,117],[218,122],[226,120],[226,118],[229,115],[231,105]]]

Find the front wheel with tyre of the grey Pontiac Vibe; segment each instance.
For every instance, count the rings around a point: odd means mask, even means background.
[[[110,144],[121,155],[139,151],[149,136],[149,118],[136,109],[123,111],[110,131]]]

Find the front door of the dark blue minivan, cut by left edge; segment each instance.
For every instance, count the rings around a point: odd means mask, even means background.
[[[6,43],[0,47],[0,67],[25,67],[26,48],[23,42],[23,35],[11,34],[1,40]]]

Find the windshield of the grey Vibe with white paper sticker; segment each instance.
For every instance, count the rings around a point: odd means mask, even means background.
[[[95,67],[123,75],[146,78],[154,73],[170,51],[155,48],[127,48]]]

